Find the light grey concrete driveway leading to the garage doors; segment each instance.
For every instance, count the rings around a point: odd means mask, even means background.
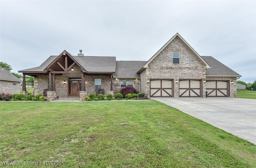
[[[256,144],[256,100],[244,98],[151,98]]]

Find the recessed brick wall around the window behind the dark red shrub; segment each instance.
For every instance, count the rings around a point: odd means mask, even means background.
[[[137,92],[140,92],[140,80],[139,78],[134,78],[134,79],[122,79],[122,78],[115,78],[114,79],[114,87],[113,87],[113,91],[114,91],[114,95],[116,95],[116,93],[120,92],[121,88],[121,81],[132,81],[133,82],[133,87],[137,90]]]

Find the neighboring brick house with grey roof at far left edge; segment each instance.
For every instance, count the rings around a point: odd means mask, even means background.
[[[20,93],[20,82],[22,80],[0,66],[0,93]]]

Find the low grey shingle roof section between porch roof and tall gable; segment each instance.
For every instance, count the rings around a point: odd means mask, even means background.
[[[116,61],[116,78],[139,78],[137,73],[147,61]]]

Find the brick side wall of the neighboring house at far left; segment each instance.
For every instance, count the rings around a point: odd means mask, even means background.
[[[20,82],[0,80],[0,93],[5,93],[5,94],[20,93]]]

